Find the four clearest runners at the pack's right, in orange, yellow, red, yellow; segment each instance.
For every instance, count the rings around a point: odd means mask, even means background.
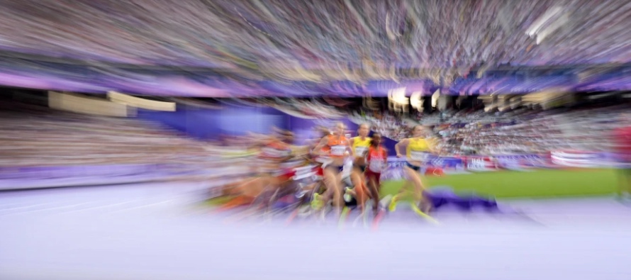
[[[352,196],[357,201],[357,206],[364,210],[367,201],[372,200],[372,210],[379,212],[379,191],[381,189],[381,173],[388,166],[388,151],[382,144],[379,133],[373,133],[369,137],[369,125],[359,125],[357,137],[346,138],[345,125],[337,123],[332,133],[323,135],[323,138],[313,147],[311,154],[328,158],[323,165],[323,177],[325,189],[323,196],[317,194],[313,197],[316,208],[331,201],[335,208],[340,208],[345,203],[343,195]],[[423,182],[420,175],[425,172],[425,160],[430,153],[435,152],[435,140],[431,137],[431,131],[421,125],[413,128],[412,138],[401,140],[395,146],[397,157],[406,156],[406,175],[408,183],[413,186],[414,207],[427,213],[430,211],[430,203],[424,203]],[[405,150],[403,150],[405,147]],[[404,152],[402,152],[404,151]],[[350,162],[350,164],[345,164]],[[342,188],[343,171],[350,166],[350,181],[352,187]],[[396,207],[398,198],[410,190],[407,184],[401,192],[394,196],[389,203],[390,210]],[[342,192],[343,191],[343,192]],[[347,201],[347,200],[346,200]]]

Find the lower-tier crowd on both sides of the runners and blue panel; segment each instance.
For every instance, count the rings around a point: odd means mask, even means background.
[[[153,123],[107,118],[37,107],[0,111],[0,167],[80,164],[245,163],[253,138],[225,135],[221,141],[196,140]],[[444,112],[420,122],[391,113],[353,113],[386,138],[408,138],[419,123],[432,125],[442,138],[442,155],[506,155],[550,150],[608,151],[610,133],[630,125],[626,107],[566,111],[516,110],[507,113]]]

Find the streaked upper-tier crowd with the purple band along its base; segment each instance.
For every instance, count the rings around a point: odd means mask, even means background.
[[[454,93],[521,92],[576,80],[472,71],[631,62],[626,1],[566,2],[9,1],[0,9],[0,68],[11,76],[0,82],[224,97],[384,96],[428,81]],[[629,84],[622,74],[594,74],[583,90]]]

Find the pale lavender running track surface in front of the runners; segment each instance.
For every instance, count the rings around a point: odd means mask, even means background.
[[[631,279],[631,208],[513,201],[530,218],[401,209],[378,231],[226,223],[200,184],[0,193],[0,279]]]

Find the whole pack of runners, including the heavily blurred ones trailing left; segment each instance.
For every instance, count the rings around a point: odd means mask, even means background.
[[[381,135],[369,136],[367,124],[359,125],[354,138],[346,134],[344,123],[335,123],[332,130],[316,129],[321,137],[306,146],[294,145],[294,134],[287,130],[275,130],[272,135],[252,135],[255,141],[251,148],[257,149],[258,160],[247,179],[223,186],[223,194],[232,197],[224,207],[255,201],[269,206],[284,196],[311,194],[308,202],[316,211],[328,206],[341,211],[352,203],[362,213],[370,205],[376,214],[384,210],[383,207],[394,210],[399,198],[411,191],[413,207],[424,213],[430,211],[431,203],[423,199],[425,187],[420,177],[436,143],[429,128],[416,126],[412,138],[396,145],[397,157],[407,158],[403,168],[408,183],[387,206],[380,203],[381,174],[388,167],[388,151],[382,145]],[[306,166],[313,167],[315,177],[321,180],[309,184],[296,182],[296,169]]]

